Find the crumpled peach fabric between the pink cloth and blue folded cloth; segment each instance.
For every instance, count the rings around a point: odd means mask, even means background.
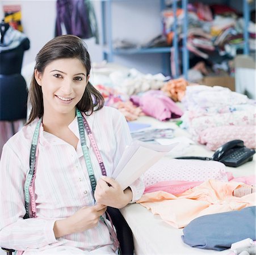
[[[195,188],[174,196],[167,192],[144,194],[137,203],[173,227],[182,228],[203,215],[241,210],[255,206],[255,193],[234,197],[233,191],[245,184],[208,180]]]

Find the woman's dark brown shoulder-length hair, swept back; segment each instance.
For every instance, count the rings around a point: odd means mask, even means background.
[[[60,58],[78,58],[86,69],[86,75],[90,74],[91,61],[85,43],[77,36],[57,36],[47,42],[36,56],[35,69],[43,73],[45,67],[54,60]],[[36,82],[35,74],[32,76],[28,94],[32,109],[26,125],[30,124],[36,117],[41,118],[44,114],[43,94],[41,86]],[[96,88],[88,82],[82,99],[78,102],[77,108],[90,115],[101,109],[104,105],[104,98]]]

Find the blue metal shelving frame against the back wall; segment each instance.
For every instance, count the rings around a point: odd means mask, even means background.
[[[177,31],[177,7],[178,3],[181,3],[181,7],[184,10],[184,20],[183,20],[183,39],[182,47],[179,49],[178,46],[178,34],[174,33],[173,46],[170,47],[156,47],[156,48],[129,48],[129,49],[114,49],[112,42],[112,2],[124,2],[124,1],[133,1],[133,0],[101,0],[101,11],[102,11],[102,37],[103,37],[103,58],[108,62],[114,61],[115,55],[129,55],[129,54],[145,54],[145,53],[162,53],[162,70],[163,73],[170,73],[169,65],[166,62],[166,53],[174,54],[174,63],[175,63],[175,74],[171,74],[173,78],[178,77],[179,75],[179,55],[182,54],[182,75],[184,78],[187,78],[187,73],[189,69],[189,52],[187,49],[187,30],[188,30],[188,20],[187,20],[187,5],[188,0],[174,0],[172,3],[172,8],[174,12],[174,25],[173,30]],[[137,0],[140,1],[140,0]],[[247,0],[243,1],[243,13],[245,20],[245,27],[248,27],[249,24],[249,3]],[[229,2],[229,1],[226,1]],[[136,4],[136,1],[135,1]],[[160,11],[164,10],[166,7],[165,0],[160,0]],[[244,54],[249,54],[249,33],[244,29]]]

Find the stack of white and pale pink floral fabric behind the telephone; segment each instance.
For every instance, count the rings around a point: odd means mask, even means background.
[[[195,85],[187,87],[182,103],[186,111],[181,128],[209,150],[234,139],[255,148],[255,100],[229,88]]]

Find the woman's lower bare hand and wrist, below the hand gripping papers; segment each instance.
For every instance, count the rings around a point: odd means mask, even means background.
[[[99,222],[100,216],[106,210],[107,206],[98,203],[94,206],[82,207],[66,219],[56,220],[53,227],[55,237],[58,238],[70,233],[83,232],[95,227]]]

